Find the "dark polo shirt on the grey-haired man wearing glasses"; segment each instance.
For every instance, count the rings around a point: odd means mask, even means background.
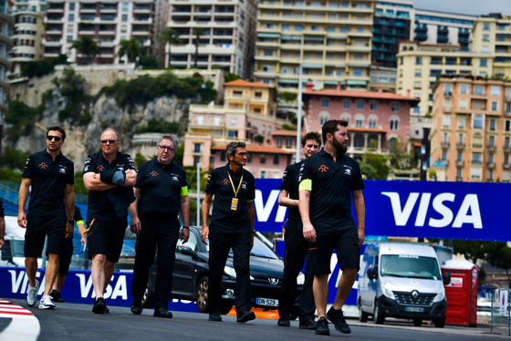
[[[172,162],[163,167],[155,158],[139,166],[134,187],[141,189],[138,205],[141,217],[172,219],[181,210],[181,194],[188,182],[183,168]]]

